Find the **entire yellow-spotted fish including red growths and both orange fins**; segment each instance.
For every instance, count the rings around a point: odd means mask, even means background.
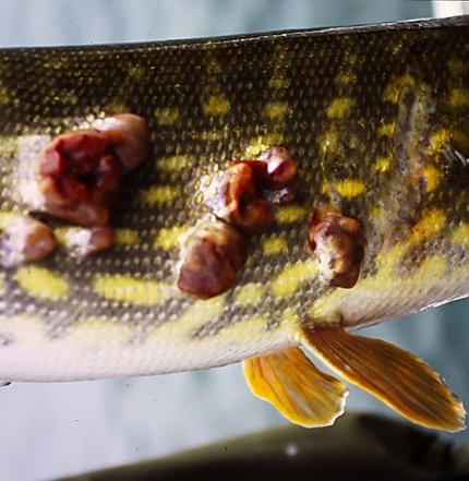
[[[437,373],[353,330],[469,293],[468,34],[459,16],[1,49],[0,378],[241,361],[313,428],[348,394],[315,358],[418,424],[464,429]],[[63,167],[93,139],[100,170]],[[71,214],[77,180],[109,215]]]

